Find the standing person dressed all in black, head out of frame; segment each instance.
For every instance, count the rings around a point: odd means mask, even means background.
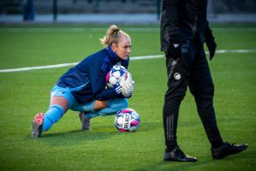
[[[211,143],[211,155],[221,159],[247,149],[247,144],[229,144],[217,128],[213,108],[214,86],[205,58],[210,60],[217,44],[206,21],[207,0],[164,0],[161,16],[161,50],[165,52],[168,90],[164,97],[164,161],[196,162],[178,146],[176,129],[180,104],[187,87],[193,94],[200,120]]]

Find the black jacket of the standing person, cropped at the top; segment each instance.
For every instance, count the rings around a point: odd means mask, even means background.
[[[206,20],[207,0],[164,0],[161,16],[161,50],[192,39],[213,38]]]

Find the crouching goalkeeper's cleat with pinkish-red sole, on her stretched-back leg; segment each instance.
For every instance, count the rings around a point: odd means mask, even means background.
[[[39,138],[41,137],[43,131],[43,123],[44,123],[45,115],[43,113],[38,113],[34,116],[32,122],[32,133],[31,137]]]

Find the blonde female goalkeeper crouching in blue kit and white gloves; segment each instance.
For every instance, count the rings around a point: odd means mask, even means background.
[[[128,68],[131,38],[126,32],[111,25],[100,41],[105,46],[103,50],[87,56],[57,80],[51,90],[49,109],[45,114],[35,115],[33,119],[32,137],[39,138],[68,109],[80,111],[82,130],[90,130],[92,117],[113,115],[128,107],[127,97],[131,97],[134,89],[131,78],[106,89],[105,75],[116,63]]]

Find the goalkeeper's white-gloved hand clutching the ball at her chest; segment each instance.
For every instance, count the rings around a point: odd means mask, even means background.
[[[126,76],[123,76],[120,80],[120,85],[122,86],[121,92],[124,97],[131,97],[134,91],[134,80],[132,79],[132,75],[130,73]]]

